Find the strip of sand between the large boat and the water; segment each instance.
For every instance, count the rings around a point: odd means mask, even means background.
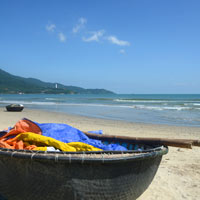
[[[56,111],[25,108],[22,112],[7,112],[0,107],[0,129],[14,126],[22,119],[28,118],[39,123],[66,123],[82,131],[103,130],[104,134],[116,134],[138,137],[171,137],[199,139],[200,127],[127,122],[123,120],[102,119]]]

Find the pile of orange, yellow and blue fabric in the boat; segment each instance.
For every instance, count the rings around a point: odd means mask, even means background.
[[[124,151],[119,144],[103,144],[90,139],[67,124],[37,123],[29,119],[18,121],[13,128],[0,132],[0,148],[36,151]]]

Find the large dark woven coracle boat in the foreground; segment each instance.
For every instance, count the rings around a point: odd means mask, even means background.
[[[130,150],[42,152],[1,148],[0,199],[137,199],[152,182],[168,148],[120,137],[103,142],[118,142]]]

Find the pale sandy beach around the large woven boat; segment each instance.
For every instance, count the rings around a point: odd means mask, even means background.
[[[82,131],[100,129],[104,134],[200,139],[198,127],[129,123],[29,109],[14,113],[0,108],[0,129],[13,126],[24,117],[40,123],[67,123]],[[169,153],[163,157],[153,182],[139,200],[198,200],[200,197],[199,155],[198,147],[193,149],[169,147]]]

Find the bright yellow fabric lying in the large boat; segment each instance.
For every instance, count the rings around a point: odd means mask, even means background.
[[[83,142],[64,143],[51,137],[46,137],[31,132],[21,133],[16,136],[16,139],[22,140],[23,142],[29,143],[30,145],[36,145],[37,147],[34,148],[34,150],[40,151],[43,151],[45,148],[42,147],[46,146],[53,146],[54,148],[60,149],[61,151],[102,151],[102,149],[96,148],[89,144],[85,144]],[[46,149],[44,151],[46,151]]]

